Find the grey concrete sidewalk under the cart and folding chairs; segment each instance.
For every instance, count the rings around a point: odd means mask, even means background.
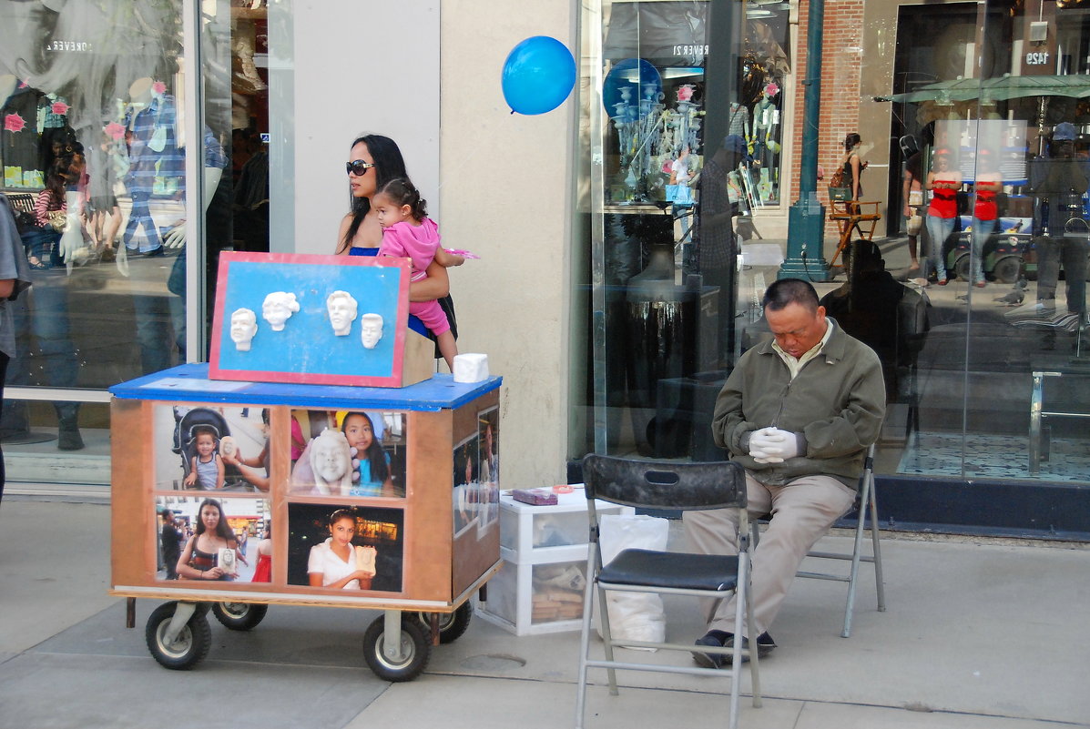
[[[361,636],[377,613],[351,609],[274,607],[249,633],[213,619],[208,658],[165,670],[144,645],[157,603],[141,600],[126,630],[123,600],[106,594],[108,544],[106,506],[0,507],[0,727],[572,726],[578,633],[517,639],[481,619],[410,683],[366,668]],[[867,570],[850,639],[839,637],[845,586],[796,582],[773,630],[782,647],[762,661],[764,707],[743,698],[742,727],[1090,726],[1090,550],[893,536],[883,546],[888,610],[874,610]],[[670,637],[702,632],[694,606],[668,608]],[[589,729],[726,725],[715,693],[726,681],[619,676],[611,697],[604,672],[592,673]]]

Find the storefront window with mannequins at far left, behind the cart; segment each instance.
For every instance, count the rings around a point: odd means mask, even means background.
[[[2,192],[34,280],[12,304],[0,438],[13,479],[108,483],[94,403],[203,360],[219,251],[268,250],[266,9],[238,4],[0,5]],[[201,53],[183,52],[186,8]],[[58,448],[80,451],[81,473],[20,466]]]

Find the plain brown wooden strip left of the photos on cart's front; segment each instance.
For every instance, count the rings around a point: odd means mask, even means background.
[[[146,433],[148,406],[144,401],[117,400],[110,405],[110,573],[114,585],[150,584],[155,578],[157,544],[149,484],[152,438]],[[128,434],[128,436],[121,436]],[[153,545],[147,548],[148,540]]]

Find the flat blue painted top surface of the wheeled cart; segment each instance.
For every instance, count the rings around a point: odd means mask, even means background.
[[[452,375],[437,374],[401,388],[240,382],[208,379],[208,364],[204,363],[179,365],[114,385],[110,394],[121,400],[434,412],[460,408],[498,389],[502,381],[502,377],[489,377],[467,385],[456,382]]]

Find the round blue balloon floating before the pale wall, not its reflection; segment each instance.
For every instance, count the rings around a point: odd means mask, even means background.
[[[556,38],[534,36],[504,61],[504,98],[511,112],[543,114],[564,104],[576,86],[576,59]]]

